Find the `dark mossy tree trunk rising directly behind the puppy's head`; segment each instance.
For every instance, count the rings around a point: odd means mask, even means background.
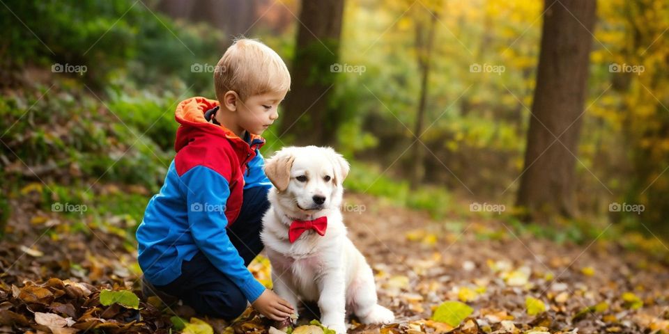
[[[335,75],[357,75],[335,65],[343,15],[344,0],[302,0],[291,92],[279,113],[277,134],[295,144],[332,145],[337,139],[340,119],[330,106]]]

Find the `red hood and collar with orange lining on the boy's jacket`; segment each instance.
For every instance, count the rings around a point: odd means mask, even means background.
[[[179,102],[174,112],[174,118],[180,123],[174,142],[176,152],[179,152],[190,141],[201,136],[220,136],[228,138],[233,144],[243,143],[247,147],[258,145],[257,148],[260,148],[265,143],[265,139],[256,134],[249,134],[249,141],[246,142],[223,125],[207,122],[204,113],[218,105],[217,100],[210,100],[206,97],[191,97]]]

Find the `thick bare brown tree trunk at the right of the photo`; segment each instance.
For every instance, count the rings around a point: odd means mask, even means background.
[[[546,0],[544,6],[552,2]],[[544,15],[525,173],[517,201],[528,214],[525,218],[574,215],[574,165],[596,6],[595,0],[561,0]]]

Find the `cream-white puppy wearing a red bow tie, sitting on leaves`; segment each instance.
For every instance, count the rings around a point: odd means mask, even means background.
[[[377,303],[374,273],[339,211],[348,162],[332,148],[289,147],[266,161],[274,184],[261,238],[272,264],[274,291],[295,308],[316,301],[321,324],[346,333],[346,311],[362,324],[390,324]]]

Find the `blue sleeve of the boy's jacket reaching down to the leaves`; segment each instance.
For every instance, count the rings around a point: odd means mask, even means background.
[[[215,170],[197,166],[181,177],[186,187],[188,225],[197,247],[230,278],[253,303],[265,287],[244,266],[244,260],[226,233],[225,205],[229,184]]]

